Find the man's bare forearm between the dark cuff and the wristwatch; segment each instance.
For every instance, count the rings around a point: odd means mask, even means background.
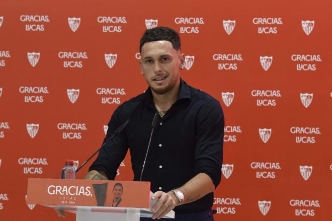
[[[178,188],[178,190],[180,190],[185,195],[185,200],[180,204],[194,202],[206,194],[213,192],[214,189],[215,186],[212,182],[212,179],[207,174],[197,174],[185,185]]]

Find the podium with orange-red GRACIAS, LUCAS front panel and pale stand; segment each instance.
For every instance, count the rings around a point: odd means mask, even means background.
[[[75,213],[76,221],[139,221],[152,217],[152,195],[150,182],[29,178],[27,203]]]

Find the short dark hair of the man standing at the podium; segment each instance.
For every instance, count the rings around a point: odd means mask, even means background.
[[[139,52],[142,52],[142,46],[150,41],[169,41],[172,43],[173,48],[181,50],[181,41],[179,33],[168,27],[156,27],[146,29],[139,42]]]

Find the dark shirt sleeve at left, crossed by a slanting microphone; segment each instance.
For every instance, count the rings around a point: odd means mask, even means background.
[[[123,119],[123,105],[120,105],[113,113],[103,143],[111,137],[113,132],[127,119]],[[114,180],[116,171],[128,151],[125,132],[117,134],[99,152],[96,161],[90,166],[89,171],[103,171],[109,180]]]

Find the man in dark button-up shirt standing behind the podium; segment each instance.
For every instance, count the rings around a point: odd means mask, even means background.
[[[127,119],[130,122],[100,151],[85,179],[113,180],[130,147],[134,181],[139,181],[157,112],[160,117],[142,176],[142,181],[151,182],[152,199],[158,198],[152,219],[174,209],[175,220],[214,220],[211,206],[221,179],[223,149],[221,106],[180,78],[185,59],[173,29],[146,30],[140,54],[141,73],[149,88],[114,111],[105,140]]]

